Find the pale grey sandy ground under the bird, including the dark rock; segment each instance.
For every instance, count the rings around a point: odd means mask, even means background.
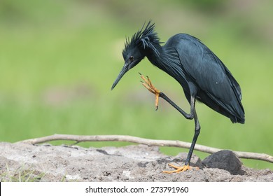
[[[273,181],[269,169],[244,167],[234,153],[221,151],[205,160],[195,155],[191,169],[179,174],[169,162],[183,165],[186,153],[170,157],[158,147],[82,148],[0,143],[0,181]],[[216,168],[212,168],[216,167]]]

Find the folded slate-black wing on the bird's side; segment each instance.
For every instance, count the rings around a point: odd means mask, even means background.
[[[197,38],[181,36],[181,44],[176,48],[182,69],[195,85],[219,104],[228,104],[235,94],[241,100],[241,89],[230,71],[214,52]]]

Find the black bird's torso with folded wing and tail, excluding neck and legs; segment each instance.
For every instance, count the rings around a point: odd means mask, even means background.
[[[188,101],[192,94],[214,111],[230,118],[232,123],[244,123],[241,88],[214,52],[188,34],[172,36],[163,48],[175,50],[179,56],[180,64],[174,64],[176,69],[172,71],[180,77],[173,77],[182,85]]]

